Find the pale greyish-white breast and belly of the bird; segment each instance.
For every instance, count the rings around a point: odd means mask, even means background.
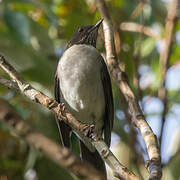
[[[101,133],[105,111],[99,52],[92,46],[74,45],[59,61],[57,75],[68,110],[81,122],[95,124]]]

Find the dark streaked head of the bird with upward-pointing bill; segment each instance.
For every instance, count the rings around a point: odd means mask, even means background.
[[[95,25],[81,26],[74,33],[71,40],[67,44],[67,49],[74,44],[88,44],[96,47],[98,29],[103,19],[99,20]]]

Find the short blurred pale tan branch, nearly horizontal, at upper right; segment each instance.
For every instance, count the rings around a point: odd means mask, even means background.
[[[161,39],[161,36],[158,33],[156,33],[152,28],[134,22],[123,22],[120,25],[120,29],[122,31],[142,33],[156,40]]]

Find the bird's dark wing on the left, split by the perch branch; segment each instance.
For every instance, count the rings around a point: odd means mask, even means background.
[[[60,80],[58,78],[57,73],[55,75],[54,94],[55,94],[56,101],[58,103],[61,103]],[[58,125],[59,134],[60,134],[62,144],[66,147],[70,147],[71,146],[71,139],[70,139],[71,127],[68,126],[63,121],[59,120],[57,117],[56,117],[56,123]]]

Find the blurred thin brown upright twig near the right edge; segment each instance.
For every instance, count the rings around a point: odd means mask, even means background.
[[[173,30],[176,21],[177,8],[178,8],[178,0],[172,0],[166,18],[165,38],[163,41],[164,46],[160,51],[159,72],[161,72],[161,85],[158,90],[158,97],[161,99],[161,101],[164,104],[164,110],[162,112],[162,126],[161,126],[160,138],[159,138],[160,145],[162,144],[164,124],[166,121],[166,114],[168,112],[168,99],[167,99],[167,89],[165,86],[165,80],[166,80],[166,72],[169,66],[170,50],[172,45],[172,37],[173,37]]]

